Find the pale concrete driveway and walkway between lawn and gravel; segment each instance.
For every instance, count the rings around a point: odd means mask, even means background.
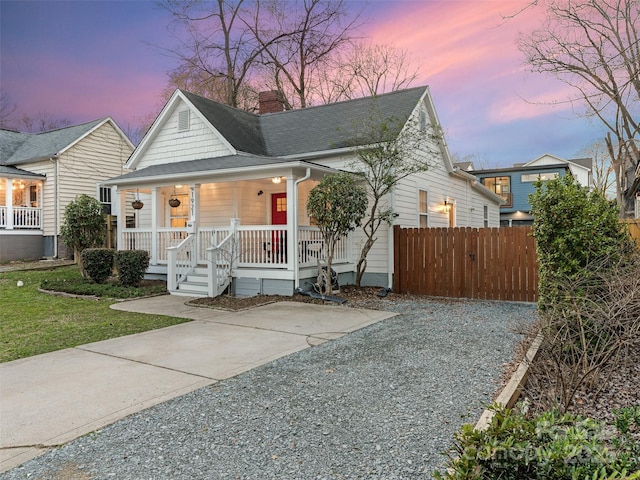
[[[192,322],[0,364],[0,473],[127,415],[394,313],[278,302],[242,312],[160,296],[116,310]]]

